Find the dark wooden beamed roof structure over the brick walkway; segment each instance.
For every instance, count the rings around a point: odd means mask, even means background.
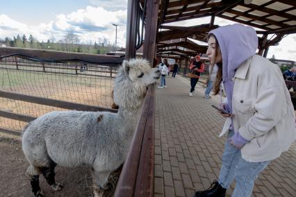
[[[160,2],[156,37],[157,54],[160,56],[167,51],[171,51],[172,55],[176,55],[175,52],[190,55],[192,50],[195,54],[205,53],[205,46],[192,44],[186,38],[206,41],[208,32],[218,27],[214,25],[215,17],[259,28],[258,48],[261,55],[264,50],[266,55],[268,47],[277,44],[284,35],[296,33],[295,0],[161,0]],[[211,17],[211,21],[208,24],[189,27],[167,25],[171,22],[201,17]],[[272,40],[268,40],[270,34],[275,35]],[[170,41],[178,39],[180,42]],[[163,49],[164,47],[167,51]],[[191,51],[188,52],[188,49]]]

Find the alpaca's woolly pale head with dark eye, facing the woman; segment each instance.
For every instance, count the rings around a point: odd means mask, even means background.
[[[158,69],[152,69],[147,60],[124,60],[115,78],[114,102],[120,108],[138,108],[145,98],[148,85],[160,76]]]

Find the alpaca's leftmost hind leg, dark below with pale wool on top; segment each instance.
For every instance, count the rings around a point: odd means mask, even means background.
[[[30,183],[31,183],[32,192],[34,196],[36,197],[44,196],[39,185],[40,169],[35,166],[28,166],[28,169],[26,170],[26,174],[31,178]]]

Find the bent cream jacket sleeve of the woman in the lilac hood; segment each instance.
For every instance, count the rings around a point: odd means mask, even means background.
[[[263,90],[258,93],[254,102],[253,116],[238,129],[238,132],[247,140],[265,135],[286,115],[286,105],[282,85]]]

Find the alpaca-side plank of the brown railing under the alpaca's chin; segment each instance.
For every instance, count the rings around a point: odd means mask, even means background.
[[[149,111],[149,102],[151,99],[152,85],[149,85],[145,100],[142,106],[142,111],[140,114],[140,119],[138,121],[135,134],[131,141],[131,146],[129,147],[129,153],[126,156],[124,166],[122,168],[122,173],[120,175],[120,180],[117,183],[115,190],[115,197],[129,197],[135,196],[135,181],[138,174],[138,166],[140,161],[140,153],[142,148],[142,140],[144,137],[145,126],[147,122],[147,113]]]

